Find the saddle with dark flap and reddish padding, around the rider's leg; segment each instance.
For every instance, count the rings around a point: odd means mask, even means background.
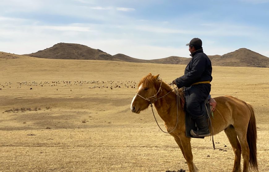
[[[181,107],[185,110],[186,136],[191,137],[191,138],[198,138],[198,137],[194,137],[190,134],[190,130],[197,130],[197,126],[196,126],[195,121],[190,117],[190,114],[184,108],[185,107],[185,95],[180,96],[180,103],[181,103]],[[211,97],[211,95],[208,95],[207,99],[205,100],[205,106],[203,107],[203,108],[205,108],[205,110],[207,112],[208,118],[210,117],[210,114],[214,118],[213,112],[216,109],[216,105],[217,105],[217,102],[215,101],[215,99],[213,99]],[[207,118],[207,124],[208,124],[208,118]],[[199,138],[203,139],[204,137],[199,137]]]

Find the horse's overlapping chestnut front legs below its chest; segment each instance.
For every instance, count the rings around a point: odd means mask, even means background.
[[[187,163],[188,163],[188,167],[189,167],[189,171],[190,172],[198,172],[199,170],[197,169],[197,167],[194,165],[193,163],[193,156],[192,156],[192,152],[191,152],[191,145],[190,145],[190,138],[186,137],[185,133],[181,133],[178,136],[181,145],[178,146],[180,147],[184,158],[186,159]],[[178,142],[178,140],[176,140],[176,142]],[[183,150],[182,150],[183,149]]]

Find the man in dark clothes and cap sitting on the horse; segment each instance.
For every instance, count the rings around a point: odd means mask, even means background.
[[[190,134],[194,137],[209,136],[207,112],[203,106],[211,90],[211,61],[203,52],[201,39],[193,38],[186,46],[189,46],[192,58],[185,68],[184,75],[175,79],[173,84],[178,88],[186,87],[186,113],[190,114],[198,127],[197,131],[191,130]]]

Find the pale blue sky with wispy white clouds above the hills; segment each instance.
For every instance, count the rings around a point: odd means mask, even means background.
[[[247,48],[269,57],[269,0],[0,0],[0,51],[29,54],[59,42],[138,59]]]

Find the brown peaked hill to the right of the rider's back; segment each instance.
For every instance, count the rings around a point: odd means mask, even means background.
[[[211,59],[211,62],[214,66],[269,68],[268,57],[246,48],[216,56]]]

